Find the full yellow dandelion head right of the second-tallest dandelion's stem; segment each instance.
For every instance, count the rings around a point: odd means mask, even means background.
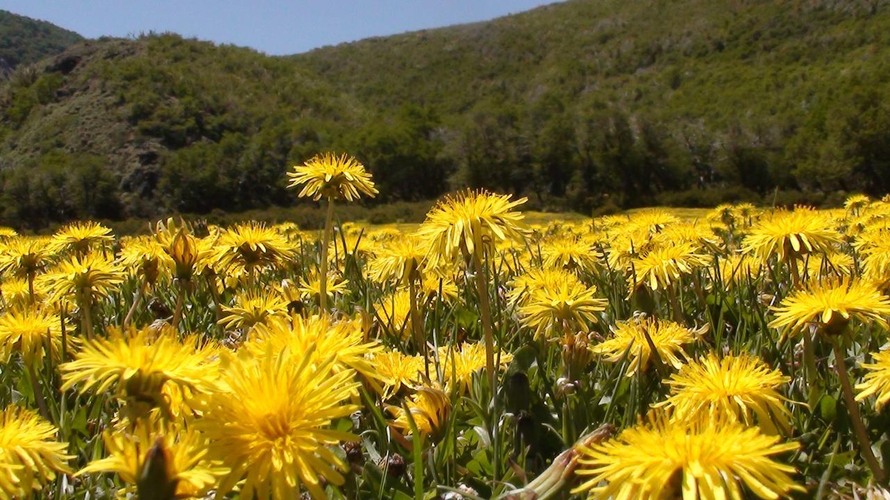
[[[535,329],[535,336],[547,338],[576,331],[589,331],[596,313],[609,302],[595,297],[595,286],[563,281],[556,286],[532,290],[519,307],[522,325]]]

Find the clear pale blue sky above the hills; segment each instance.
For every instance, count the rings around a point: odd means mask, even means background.
[[[547,0],[0,0],[83,36],[174,31],[270,54],[489,20]]]

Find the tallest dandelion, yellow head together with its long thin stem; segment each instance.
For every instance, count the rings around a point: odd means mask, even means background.
[[[328,211],[325,215],[325,232],[321,239],[319,305],[321,310],[328,308],[328,244],[334,222],[334,201],[358,199],[360,194],[374,198],[377,190],[371,174],[365,171],[364,165],[346,154],[335,156],[324,153],[312,157],[303,165],[295,165],[294,172],[287,173],[290,177],[289,188],[303,186],[297,195],[300,198],[310,197],[316,201],[328,199]]]

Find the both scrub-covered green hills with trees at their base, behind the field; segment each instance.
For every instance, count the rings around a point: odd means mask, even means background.
[[[0,93],[2,218],[286,206],[327,149],[384,195],[532,206],[821,203],[890,190],[890,4],[574,0],[287,58],[174,35],[78,44]]]

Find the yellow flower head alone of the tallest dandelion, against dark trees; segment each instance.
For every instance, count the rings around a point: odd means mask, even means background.
[[[288,172],[287,176],[290,177],[288,188],[303,186],[300,198],[345,198],[352,201],[362,194],[374,198],[378,192],[365,166],[346,154],[337,157],[333,153],[325,153],[312,157],[303,165],[296,165],[294,172]]]

